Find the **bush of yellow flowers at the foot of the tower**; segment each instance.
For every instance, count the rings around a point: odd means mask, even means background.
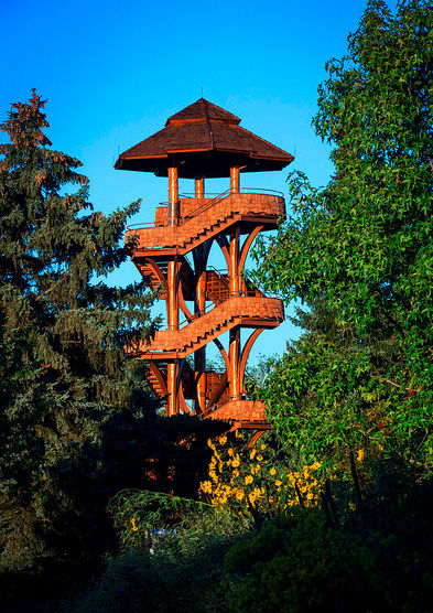
[[[273,450],[266,443],[248,448],[229,444],[226,435],[213,451],[208,478],[201,483],[202,498],[220,508],[231,508],[245,517],[259,513],[286,512],[293,506],[317,506],[324,483],[321,463],[290,470],[275,461]]]

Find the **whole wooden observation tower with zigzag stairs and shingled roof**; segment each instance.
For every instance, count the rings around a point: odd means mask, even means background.
[[[166,415],[201,415],[263,430],[263,405],[247,398],[245,368],[259,334],[278,326],[284,311],[281,300],[251,287],[241,272],[253,239],[277,227],[285,206],[279,193],[241,190],[239,173],[281,170],[293,157],[239,122],[201,98],[121,153],[115,168],[169,178],[169,203],[156,208],[154,225],[136,226],[126,237],[137,236],[132,260],[152,289],[162,287],[166,303],[167,330],[136,349],[137,358],[149,364],[150,384]],[[206,179],[225,176],[230,181],[226,192],[206,194]],[[178,178],[195,181],[194,194],[178,194]],[[213,244],[226,270],[208,266]],[[243,346],[241,331],[250,333]],[[206,368],[209,343],[220,351],[224,372]]]

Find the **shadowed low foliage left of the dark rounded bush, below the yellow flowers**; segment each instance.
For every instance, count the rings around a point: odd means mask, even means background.
[[[108,558],[94,587],[64,603],[62,613],[227,612],[231,584],[224,557],[245,535],[245,525],[202,505],[172,528],[147,547],[120,536],[130,546]]]

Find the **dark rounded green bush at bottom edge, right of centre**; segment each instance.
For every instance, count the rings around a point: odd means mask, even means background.
[[[226,557],[228,571],[243,577],[235,611],[366,611],[364,558],[359,538],[326,526],[318,510],[303,509],[266,523]],[[365,563],[365,562],[364,562]]]

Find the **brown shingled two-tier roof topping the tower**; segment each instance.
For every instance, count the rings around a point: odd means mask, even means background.
[[[294,158],[239,126],[240,119],[201,98],[172,115],[165,128],[121,153],[116,169],[166,176],[170,166],[185,179],[228,176],[242,172],[281,170]]]

